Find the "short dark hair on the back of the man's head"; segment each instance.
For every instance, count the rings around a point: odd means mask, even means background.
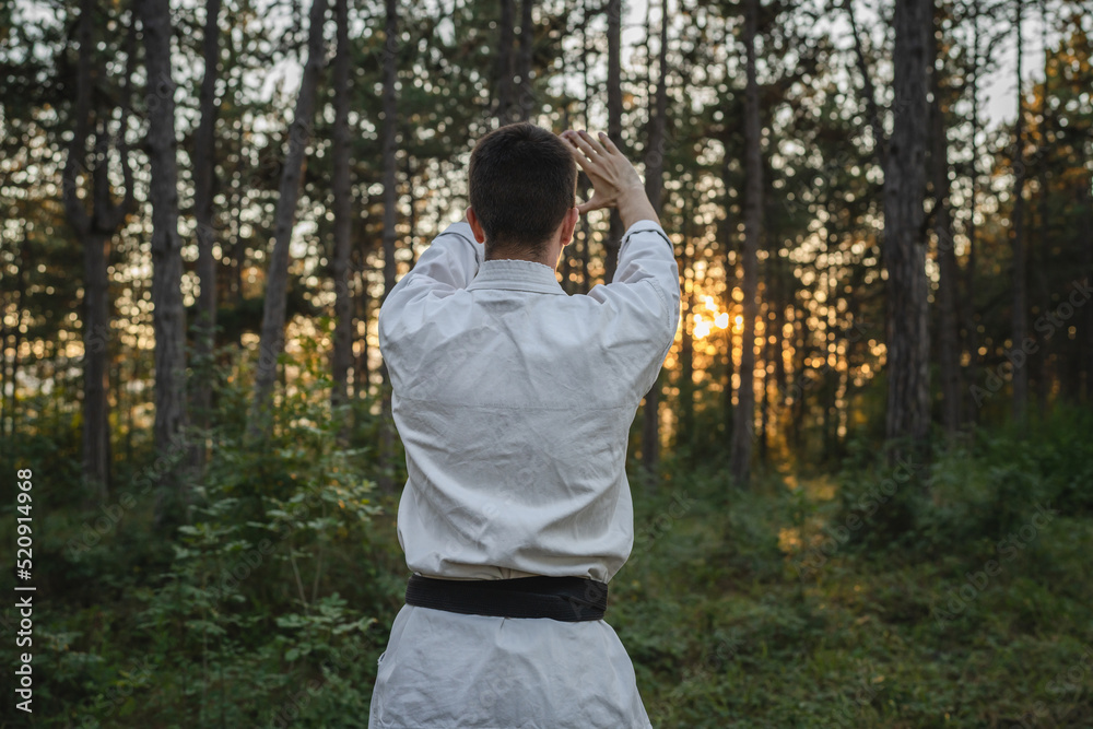
[[[470,203],[489,251],[542,254],[577,204],[576,188],[573,153],[554,132],[533,124],[494,129],[471,152]]]

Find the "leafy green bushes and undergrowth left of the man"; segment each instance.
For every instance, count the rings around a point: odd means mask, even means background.
[[[393,528],[374,543],[390,519],[372,449],[342,445],[374,442],[356,433],[374,430],[375,403],[331,412],[324,357],[315,341],[302,350],[259,446],[235,416],[246,369],[214,375],[224,416],[200,434],[209,461],[187,477],[177,526],[154,524],[163,495],[140,487],[158,478],[155,460],[95,509],[66,507],[42,481],[35,556],[56,595],[35,612],[44,726],[361,726],[398,607],[398,545]],[[22,452],[46,463],[39,449],[58,443],[43,427]]]

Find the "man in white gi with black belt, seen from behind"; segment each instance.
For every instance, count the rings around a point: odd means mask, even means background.
[[[580,205],[577,164],[593,186]],[[469,172],[466,221],[379,313],[414,574],[369,727],[645,729],[602,618],[634,541],[630,426],[679,325],[672,245],[602,133],[502,127]],[[567,296],[559,256],[601,208],[626,226],[614,280]]]

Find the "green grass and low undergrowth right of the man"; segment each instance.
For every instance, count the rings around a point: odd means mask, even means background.
[[[654,726],[1089,726],[1090,424],[980,431],[906,479],[865,443],[795,489],[668,462],[609,611]]]

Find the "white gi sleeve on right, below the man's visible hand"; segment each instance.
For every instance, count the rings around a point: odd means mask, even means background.
[[[619,248],[614,279],[588,295],[615,309],[620,336],[649,342],[650,352],[658,353],[659,372],[680,322],[679,266],[665,230],[651,220],[631,225]]]

